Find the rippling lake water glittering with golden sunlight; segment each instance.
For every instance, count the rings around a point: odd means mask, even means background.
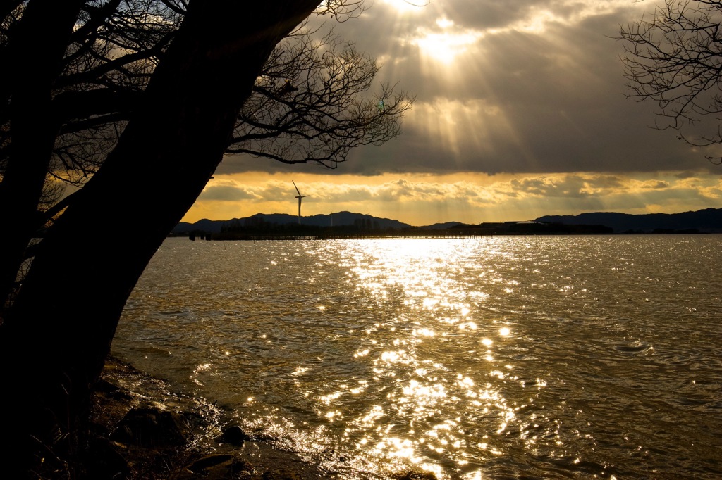
[[[722,478],[722,235],[168,239],[113,353],[349,479]]]

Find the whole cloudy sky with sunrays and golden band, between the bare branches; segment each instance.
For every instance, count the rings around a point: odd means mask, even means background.
[[[336,169],[227,156],[183,220],[295,215],[292,182],[309,195],[303,215],[414,226],[722,208],[722,166],[628,97],[620,26],[656,2],[409,1],[333,22],[376,59],[379,82],[416,98],[401,135]]]

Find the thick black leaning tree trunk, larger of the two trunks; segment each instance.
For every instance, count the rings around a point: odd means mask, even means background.
[[[45,237],[0,327],[0,415],[25,422],[4,430],[22,452],[68,448],[54,442],[82,418],[136,281],[221,161],[274,45],[317,4],[191,2],[142,107]],[[118,228],[125,219],[134,231]]]

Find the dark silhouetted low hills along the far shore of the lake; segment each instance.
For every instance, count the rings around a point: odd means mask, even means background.
[[[389,218],[352,212],[338,212],[327,215],[302,217],[306,226],[362,226],[375,230],[399,230],[419,228],[423,230],[443,230],[448,228],[488,228],[490,226],[513,225],[517,222],[480,223],[468,225],[460,222],[435,223],[428,226],[412,227]],[[562,224],[570,226],[606,226],[615,234],[622,233],[666,233],[679,231],[700,231],[703,233],[722,233],[722,208],[706,208],[695,212],[684,213],[647,213],[631,215],[628,213],[581,213],[580,215],[545,215],[531,221],[532,223]],[[285,225],[297,224],[296,215],[286,213],[257,213],[251,217],[232,218],[231,220],[199,220],[196,223],[181,222],[173,229],[173,234],[188,234],[192,231],[203,231],[211,234],[235,226]],[[521,222],[520,222],[521,223]],[[524,222],[529,223],[529,222]]]

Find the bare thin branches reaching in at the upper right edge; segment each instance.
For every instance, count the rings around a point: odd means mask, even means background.
[[[656,128],[677,130],[694,146],[722,144],[721,24],[719,1],[666,0],[621,28],[629,96],[656,102]]]

